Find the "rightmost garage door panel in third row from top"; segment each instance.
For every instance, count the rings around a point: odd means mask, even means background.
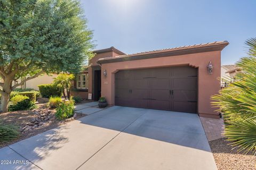
[[[196,90],[174,90],[173,100],[175,101],[196,101],[197,91]]]

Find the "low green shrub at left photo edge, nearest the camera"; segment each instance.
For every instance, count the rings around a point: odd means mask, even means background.
[[[4,124],[0,122],[0,142],[10,142],[19,137],[18,127],[12,124]]]

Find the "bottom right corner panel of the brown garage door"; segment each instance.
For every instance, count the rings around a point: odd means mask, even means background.
[[[196,102],[173,101],[173,111],[196,113],[196,108]]]

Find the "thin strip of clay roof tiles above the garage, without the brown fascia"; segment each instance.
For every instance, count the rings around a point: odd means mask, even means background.
[[[181,47],[174,47],[174,48],[165,48],[165,49],[157,49],[151,50],[149,52],[141,52],[141,53],[134,53],[134,54],[125,54],[115,57],[108,57],[108,58],[100,58],[98,62],[105,61],[105,60],[113,60],[117,58],[125,58],[125,57],[133,57],[133,56],[141,56],[141,55],[148,55],[148,54],[157,54],[157,53],[165,53],[165,52],[178,52],[181,50],[189,50],[189,49],[199,49],[203,47],[214,47],[214,46],[221,46],[221,50],[228,45],[228,41],[215,41],[213,43],[206,43],[206,44],[196,44],[196,45],[189,45],[189,46],[181,46]],[[223,46],[223,47],[222,47]]]

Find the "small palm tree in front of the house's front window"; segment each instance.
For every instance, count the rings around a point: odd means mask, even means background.
[[[71,81],[75,79],[74,74],[67,74],[67,73],[60,73],[58,77],[54,78],[53,83],[55,85],[60,84],[62,88],[62,94],[65,99],[70,98],[70,88],[71,88]],[[65,90],[67,91],[67,97],[65,94]]]

